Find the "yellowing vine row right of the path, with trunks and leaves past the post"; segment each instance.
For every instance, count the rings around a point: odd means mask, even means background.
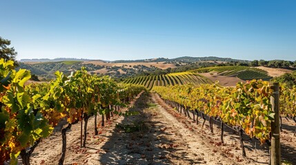
[[[285,85],[280,87],[279,111],[282,115],[293,118],[296,122],[295,89],[296,87],[288,89]],[[272,111],[274,105],[270,101],[275,89],[268,82],[251,80],[245,84],[237,83],[235,88],[219,87],[219,85],[213,84],[199,87],[192,85],[154,87],[152,90],[156,91],[161,98],[180,113],[183,110],[184,115],[188,117],[190,117],[190,113],[193,113],[194,121],[195,115],[197,115],[197,124],[200,114],[204,119],[202,124],[204,126],[206,122],[204,116],[207,115],[212,133],[213,120],[219,119],[221,122],[221,142],[224,142],[224,124],[239,132],[242,155],[244,156],[246,156],[246,151],[242,138],[243,133],[250,138],[259,140],[262,144],[270,145],[270,139],[272,139],[270,135],[273,134],[271,132],[272,123],[277,119],[275,112]],[[296,129],[294,132],[296,132]]]

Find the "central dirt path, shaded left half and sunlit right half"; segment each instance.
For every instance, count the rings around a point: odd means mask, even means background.
[[[115,129],[103,146],[108,152],[100,155],[101,164],[235,164],[210,152],[213,147],[194,137],[157,104],[155,96],[144,94],[132,111],[140,115],[126,118]]]

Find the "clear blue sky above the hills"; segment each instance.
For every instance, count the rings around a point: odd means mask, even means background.
[[[21,58],[296,60],[295,0],[1,1]]]

